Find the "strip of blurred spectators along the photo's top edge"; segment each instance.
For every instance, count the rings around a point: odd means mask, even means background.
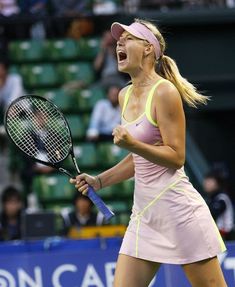
[[[124,9],[136,12],[140,7],[189,8],[189,7],[234,7],[234,0],[1,0],[0,15],[62,16],[71,17],[92,12],[113,14]]]

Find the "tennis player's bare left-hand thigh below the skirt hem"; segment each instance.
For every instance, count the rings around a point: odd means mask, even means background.
[[[160,263],[119,254],[114,287],[147,287],[160,267]]]

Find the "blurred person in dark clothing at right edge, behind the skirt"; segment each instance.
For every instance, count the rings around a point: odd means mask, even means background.
[[[234,229],[234,210],[228,194],[223,188],[223,179],[216,173],[209,173],[203,181],[208,196],[210,212],[224,239],[229,239]]]

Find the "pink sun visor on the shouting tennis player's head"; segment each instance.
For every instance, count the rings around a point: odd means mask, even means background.
[[[153,34],[153,32],[150,31],[145,25],[138,22],[134,22],[130,26],[127,26],[118,22],[114,22],[111,26],[112,36],[116,40],[119,40],[120,36],[124,31],[127,31],[136,38],[148,41],[154,47],[156,58],[158,59],[160,57],[161,49],[158,39]]]

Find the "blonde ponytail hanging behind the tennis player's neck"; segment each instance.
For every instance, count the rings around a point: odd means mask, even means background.
[[[189,106],[196,108],[198,104],[207,103],[209,97],[198,93],[196,87],[181,76],[176,62],[172,58],[163,55],[158,60],[156,72],[175,85],[182,99]]]

